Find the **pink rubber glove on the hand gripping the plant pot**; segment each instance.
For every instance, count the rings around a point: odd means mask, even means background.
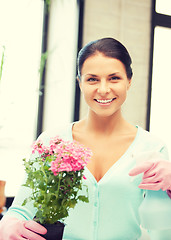
[[[33,220],[23,221],[15,217],[6,216],[0,221],[0,240],[45,240],[40,234],[47,230]]]

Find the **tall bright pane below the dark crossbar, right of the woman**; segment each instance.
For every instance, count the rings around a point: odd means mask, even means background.
[[[156,27],[152,76],[150,131],[162,138],[171,156],[171,29]]]

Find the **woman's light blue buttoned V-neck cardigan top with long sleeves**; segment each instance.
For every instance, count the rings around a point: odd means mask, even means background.
[[[72,140],[72,126],[54,132],[66,140]],[[139,206],[144,201],[145,190],[139,189],[141,175],[132,178],[128,172],[135,166],[136,154],[146,151],[157,151],[168,158],[163,142],[149,132],[137,127],[137,135],[125,154],[108,170],[103,178],[97,182],[91,172],[85,168],[89,190],[89,203],[79,202],[70,210],[66,218],[65,240],[137,240],[141,236]],[[50,133],[42,135],[47,141]],[[115,146],[113,146],[115,147]],[[84,190],[82,190],[84,191]],[[30,194],[30,190],[21,187],[7,214],[20,219],[33,219],[36,209],[32,203],[21,206],[23,200]],[[160,191],[159,191],[160,194]],[[171,204],[171,202],[170,202]],[[157,209],[156,209],[157,210]],[[156,238],[155,231],[151,235],[153,240],[171,239],[171,230],[163,232]],[[157,236],[159,234],[157,233]]]

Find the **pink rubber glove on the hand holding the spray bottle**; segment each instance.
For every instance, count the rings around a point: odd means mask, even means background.
[[[147,190],[171,190],[171,162],[165,160],[146,161],[138,164],[129,172],[130,176],[143,174],[142,182],[138,186]]]

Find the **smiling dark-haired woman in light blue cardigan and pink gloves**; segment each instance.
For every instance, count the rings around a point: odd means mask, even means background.
[[[138,209],[144,200],[143,188],[171,189],[171,163],[164,160],[166,147],[122,116],[132,69],[129,53],[120,42],[104,38],[87,44],[78,56],[78,82],[89,107],[88,115],[54,135],[74,139],[93,151],[84,180],[89,203],[79,202],[70,211],[64,239],[137,240],[141,236]],[[48,138],[49,134],[42,135],[43,140]],[[162,157],[143,162],[130,172],[136,156],[146,152],[158,152]],[[132,176],[144,172],[142,183],[142,176],[132,180],[129,172]],[[22,187],[0,224],[0,240],[44,239],[36,233],[43,234],[46,229],[31,220],[36,209],[31,204],[21,207],[27,194],[29,190]],[[170,230],[167,237],[158,239],[170,239]]]

